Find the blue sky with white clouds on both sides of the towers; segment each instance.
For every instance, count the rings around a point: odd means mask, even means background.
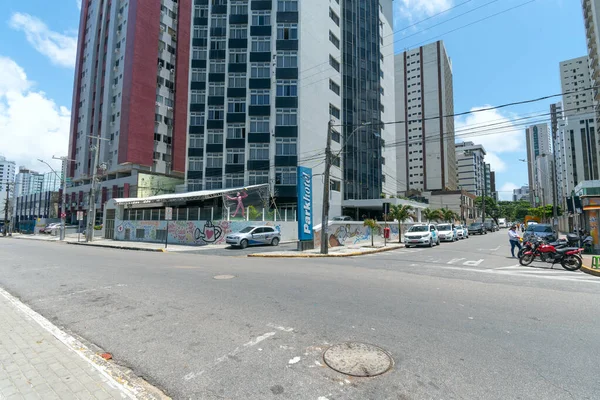
[[[395,0],[396,31],[455,7],[398,33],[395,51],[444,40],[453,63],[456,112],[559,93],[558,63],[586,54],[581,5],[574,0],[529,1]],[[518,8],[493,16],[512,7]],[[49,161],[66,153],[77,0],[2,2],[0,15],[0,153],[44,170],[37,158]],[[490,18],[474,23],[485,17]],[[384,55],[393,51],[383,49]],[[559,100],[459,118],[457,130],[464,133],[474,124],[502,118],[510,124],[515,117],[548,112],[549,104]],[[506,190],[501,197],[526,183],[525,164],[518,161],[525,158],[523,127],[471,140],[492,153],[498,190]]]

